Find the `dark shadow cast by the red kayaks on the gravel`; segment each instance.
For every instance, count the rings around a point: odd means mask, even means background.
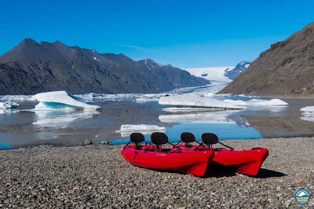
[[[220,170],[215,168],[215,170],[213,170],[213,168],[209,168],[206,173],[201,177],[201,178],[212,178],[212,177],[230,177],[230,176],[236,176],[236,175],[244,175],[244,174],[237,174],[235,172],[232,171],[224,171],[224,170]],[[253,178],[259,178],[259,179],[267,179],[267,178],[272,178],[272,177],[282,177],[282,176],[286,176],[287,174],[278,172],[278,171],[274,171],[274,170],[268,170],[268,169],[264,169],[261,168],[257,175],[252,176],[252,175],[246,175],[246,176],[250,176]]]

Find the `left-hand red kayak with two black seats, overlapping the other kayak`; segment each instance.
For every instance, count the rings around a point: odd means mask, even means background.
[[[162,145],[168,143],[165,133],[152,133],[150,139],[149,145],[140,145],[139,143],[144,142],[143,134],[132,133],[130,142],[134,145],[128,145],[129,142],[122,146],[122,157],[135,166],[196,176],[203,176],[214,158],[213,150],[185,150],[175,145],[171,149],[163,148]]]

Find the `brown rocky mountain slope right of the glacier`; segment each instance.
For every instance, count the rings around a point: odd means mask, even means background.
[[[279,95],[314,93],[314,23],[271,44],[219,93]]]

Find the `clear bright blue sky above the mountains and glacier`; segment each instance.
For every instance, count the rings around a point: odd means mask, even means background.
[[[3,0],[0,54],[32,38],[180,68],[232,66],[313,22],[313,8],[313,0]]]

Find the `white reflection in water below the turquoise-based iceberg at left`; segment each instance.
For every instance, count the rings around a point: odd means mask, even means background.
[[[99,111],[84,111],[84,110],[48,110],[48,111],[33,111],[36,115],[34,125],[66,128],[73,121],[93,118],[99,114]]]

